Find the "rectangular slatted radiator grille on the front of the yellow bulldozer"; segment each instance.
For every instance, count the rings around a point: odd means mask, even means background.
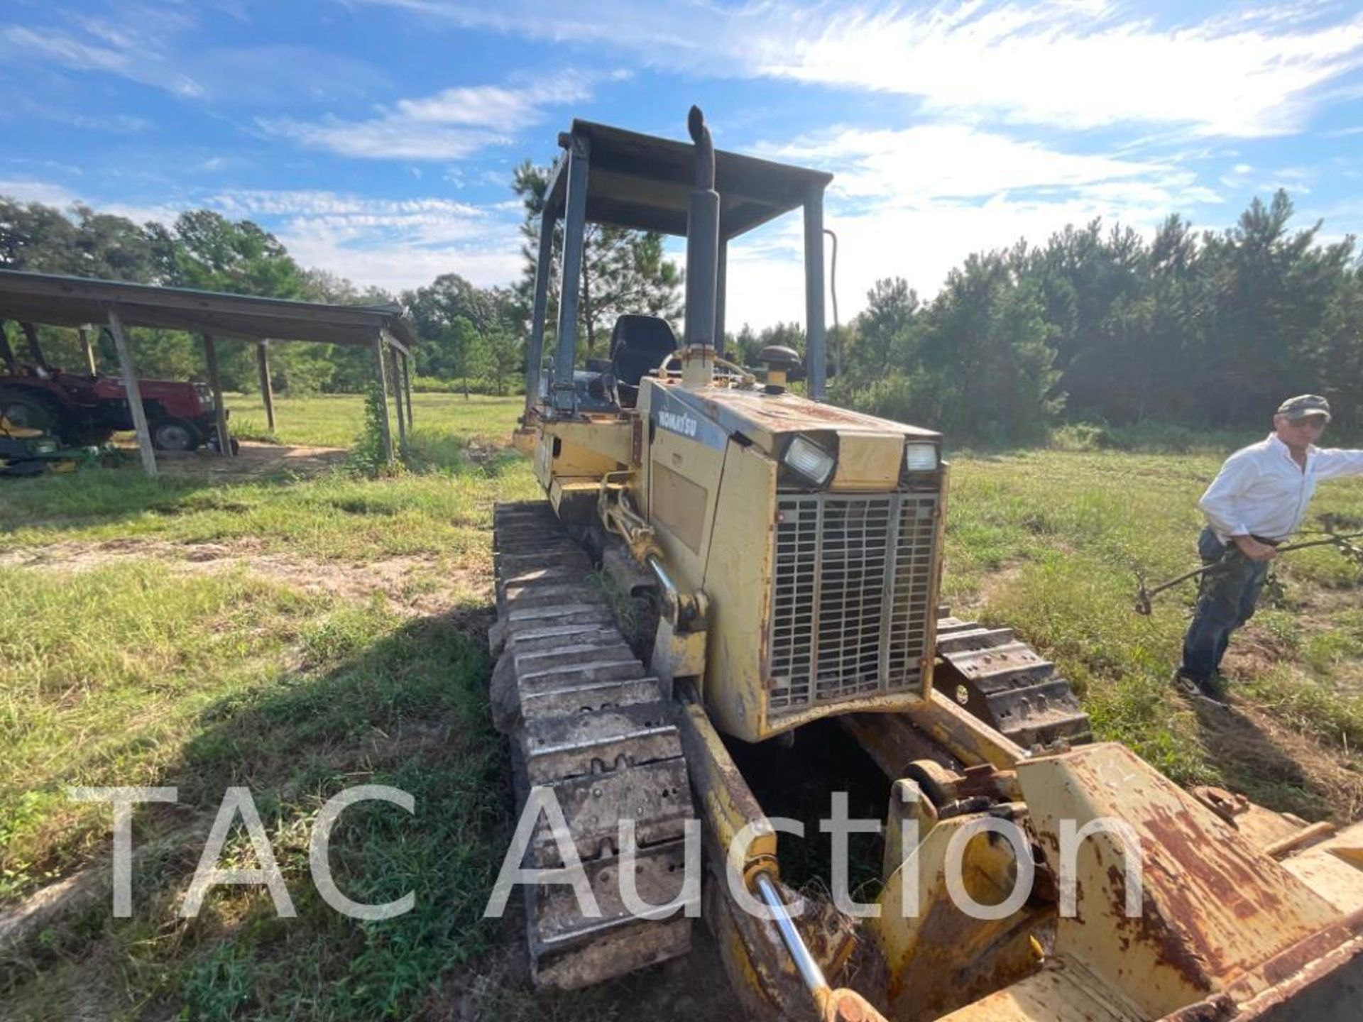
[[[935,508],[935,493],[777,495],[773,713],[919,681]]]

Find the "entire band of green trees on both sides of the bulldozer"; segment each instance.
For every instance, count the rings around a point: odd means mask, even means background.
[[[360,289],[297,264],[249,221],[194,210],[174,223],[138,225],[75,206],[64,213],[0,198],[0,266],[243,294],[399,304],[420,343],[417,386],[508,392],[525,368],[545,168],[517,168],[521,278],[477,288],[458,274],[399,294]],[[1337,420],[1363,428],[1363,277],[1353,238],[1322,244],[1321,223],[1293,229],[1278,192],[1255,199],[1235,226],[1195,232],[1168,217],[1152,237],[1093,221],[1041,245],[1025,240],[969,256],[923,300],[900,277],[867,294],[851,323],[830,330],[829,397],[875,414],[996,442],[1037,440],[1065,421],[1114,427],[1159,421],[1194,428],[1262,424],[1288,394],[1321,392]],[[553,234],[557,275],[562,229]],[[592,226],[578,309],[579,357],[608,352],[623,312],[675,326],[682,271],[652,232]],[[556,322],[551,289],[547,320]],[[49,330],[49,357],[79,365],[74,331]],[[105,341],[104,343],[108,343]],[[729,357],[755,365],[766,345],[804,350],[797,323],[726,335]],[[202,352],[176,331],[138,331],[147,375],[202,376]],[[255,386],[245,346],[222,354],[228,387]],[[101,352],[108,368],[113,352]],[[368,352],[278,345],[285,392],[361,390]]]

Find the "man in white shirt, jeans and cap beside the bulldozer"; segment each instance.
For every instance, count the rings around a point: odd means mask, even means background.
[[[1288,398],[1273,416],[1268,439],[1227,458],[1198,501],[1208,521],[1198,555],[1204,564],[1220,567],[1202,576],[1183,639],[1183,664],[1174,676],[1183,691],[1221,698],[1219,668],[1231,632],[1254,613],[1269,561],[1306,518],[1315,484],[1363,474],[1363,451],[1315,446],[1329,421],[1325,398]]]

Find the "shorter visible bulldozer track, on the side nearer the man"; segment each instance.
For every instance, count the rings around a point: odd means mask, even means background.
[[[943,608],[936,654],[936,688],[1024,748],[1093,739],[1070,683],[1011,628],[962,621]]]

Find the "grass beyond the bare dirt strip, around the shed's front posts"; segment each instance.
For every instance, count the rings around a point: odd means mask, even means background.
[[[416,395],[412,462],[394,484],[334,471],[222,481],[184,473],[147,480],[135,466],[46,476],[7,486],[0,552],[55,542],[158,540],[245,542],[318,559],[371,560],[487,549],[491,507],[537,491],[523,459],[504,450],[519,398]],[[425,403],[427,407],[420,407]],[[281,401],[281,437],[328,444],[361,416],[357,395]],[[294,420],[285,427],[286,416]],[[421,422],[429,418],[429,425]]]

